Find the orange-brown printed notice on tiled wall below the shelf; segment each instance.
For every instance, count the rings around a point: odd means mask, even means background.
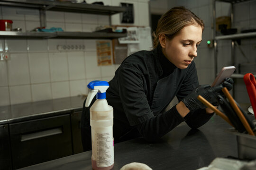
[[[98,66],[109,66],[111,61],[111,41],[96,41]]]

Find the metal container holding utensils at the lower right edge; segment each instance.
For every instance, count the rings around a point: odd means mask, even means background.
[[[225,131],[237,136],[238,158],[256,159],[256,136],[239,133],[234,128],[229,128]]]

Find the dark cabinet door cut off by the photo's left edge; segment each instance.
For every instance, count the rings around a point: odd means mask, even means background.
[[[0,169],[12,169],[8,125],[0,125]]]

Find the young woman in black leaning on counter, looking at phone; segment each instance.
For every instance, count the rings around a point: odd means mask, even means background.
[[[106,93],[114,108],[115,142],[138,136],[155,141],[183,121],[198,128],[211,118],[213,111],[197,96],[218,105],[218,92],[223,86],[230,90],[233,81],[199,85],[193,59],[203,29],[202,20],[190,10],[171,8],[158,21],[154,50],[138,51],[122,62]],[[165,111],[175,96],[179,103]],[[84,108],[81,120],[85,151],[91,147],[89,108]]]

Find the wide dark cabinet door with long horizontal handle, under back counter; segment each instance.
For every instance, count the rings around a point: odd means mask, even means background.
[[[13,169],[72,155],[69,114],[9,127]]]

